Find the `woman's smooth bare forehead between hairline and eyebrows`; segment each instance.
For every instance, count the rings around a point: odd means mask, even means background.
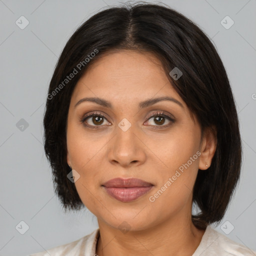
[[[129,103],[163,95],[182,101],[160,60],[135,50],[108,52],[92,63],[77,82],[73,97],[87,94]]]

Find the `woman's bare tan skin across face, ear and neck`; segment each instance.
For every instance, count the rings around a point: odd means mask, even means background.
[[[164,100],[138,108],[140,101],[159,96],[171,96],[183,107]],[[106,99],[112,109],[90,101],[75,107],[83,97]],[[95,117],[85,121],[95,129],[80,122],[92,111],[107,116],[100,124],[93,121]],[[157,111],[175,121],[165,118],[159,123],[155,117],[148,117]],[[118,126],[123,118],[131,124],[126,131]],[[198,168],[205,170],[211,163],[216,137],[207,129],[201,139],[196,118],[192,119],[157,58],[120,50],[103,55],[89,66],[71,96],[66,139],[67,163],[80,175],[75,182],[77,192],[97,217],[97,255],[192,255],[204,233],[191,221],[192,188]],[[149,196],[197,151],[200,156],[151,202]],[[134,201],[121,202],[101,186],[115,177],[140,178],[154,186]],[[123,221],[128,225],[125,233],[121,231]]]

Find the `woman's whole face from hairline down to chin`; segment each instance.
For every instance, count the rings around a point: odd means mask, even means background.
[[[97,100],[80,101],[85,97]],[[162,97],[170,100],[157,100]],[[200,136],[196,118],[158,59],[132,50],[112,52],[95,61],[74,88],[67,163],[82,202],[99,223],[143,230],[190,219],[198,168],[206,169],[211,159]],[[147,183],[105,184],[113,178]]]

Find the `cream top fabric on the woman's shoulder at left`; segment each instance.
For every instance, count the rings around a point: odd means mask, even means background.
[[[94,255],[98,234],[99,229],[95,229],[80,239],[41,252],[29,254],[28,256]]]

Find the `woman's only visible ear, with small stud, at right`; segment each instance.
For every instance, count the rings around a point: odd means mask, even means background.
[[[205,128],[201,143],[200,143],[200,152],[198,168],[205,170],[209,168],[211,164],[212,157],[215,153],[217,146],[217,132],[215,127]],[[207,164],[207,166],[206,166]]]

